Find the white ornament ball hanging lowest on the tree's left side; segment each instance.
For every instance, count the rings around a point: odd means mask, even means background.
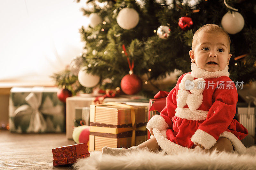
[[[78,81],[84,87],[94,87],[100,82],[100,77],[87,73],[86,70],[80,70],[78,73]]]

